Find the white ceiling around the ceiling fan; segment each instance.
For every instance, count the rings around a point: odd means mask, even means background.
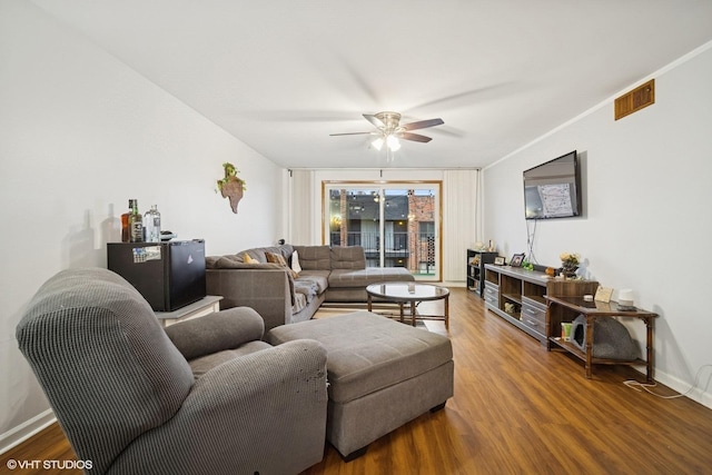
[[[712,0],[33,3],[288,168],[483,167],[712,40]],[[329,136],[382,110],[445,125]]]

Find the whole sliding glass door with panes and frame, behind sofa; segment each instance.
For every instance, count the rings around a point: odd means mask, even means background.
[[[372,267],[441,279],[439,181],[325,181],[323,191],[325,243],[363,246]]]

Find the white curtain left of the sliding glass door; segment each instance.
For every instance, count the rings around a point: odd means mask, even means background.
[[[288,243],[308,246],[320,244],[314,240],[314,171],[290,170]]]

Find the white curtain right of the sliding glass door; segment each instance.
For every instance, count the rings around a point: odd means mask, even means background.
[[[482,240],[479,170],[445,170],[443,181],[443,280],[464,281],[467,248]]]

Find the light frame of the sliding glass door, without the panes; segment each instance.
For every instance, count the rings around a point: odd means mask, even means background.
[[[428,274],[427,271],[424,275],[419,275],[421,267],[423,263],[408,263],[408,269],[413,273],[417,280],[421,281],[442,281],[443,277],[443,181],[442,180],[323,180],[322,181],[322,243],[324,245],[332,245],[332,214],[330,214],[330,196],[332,190],[342,190],[342,189],[354,189],[354,190],[368,190],[368,191],[377,191],[378,197],[383,198],[384,191],[388,189],[397,189],[397,190],[434,190],[435,196],[435,206],[433,207],[433,211],[435,214],[433,224],[434,224],[434,238],[435,243],[433,246],[434,250],[434,267],[435,273]],[[376,195],[374,194],[374,198]],[[385,219],[384,216],[384,199],[379,201],[380,214],[379,214],[379,240],[384,240],[386,238],[385,234]],[[407,217],[412,219],[412,216]],[[418,246],[422,246],[419,241],[416,243]],[[385,264],[385,253],[386,246],[380,245],[379,248],[379,266],[384,266]],[[417,268],[413,268],[413,266],[417,266]],[[427,266],[427,264],[426,264]]]

